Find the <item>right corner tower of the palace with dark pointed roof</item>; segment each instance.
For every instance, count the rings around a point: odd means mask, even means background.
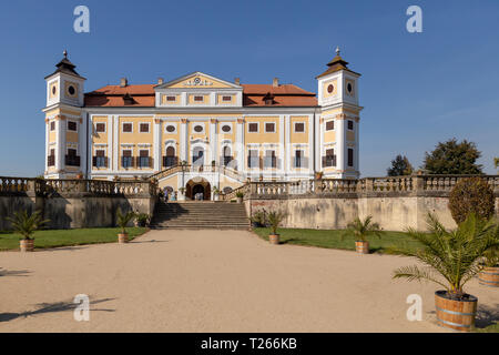
[[[327,63],[328,69],[318,75],[318,104],[320,118],[316,166],[325,178],[356,179],[359,172],[359,73],[348,69],[336,55]]]

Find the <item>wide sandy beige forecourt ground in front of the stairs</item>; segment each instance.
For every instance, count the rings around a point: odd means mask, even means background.
[[[271,245],[242,231],[151,231],[126,245],[0,253],[0,332],[446,332],[432,284],[393,281],[411,260]],[[499,291],[476,280],[480,317]],[[73,297],[90,296],[90,321]],[[406,297],[422,297],[409,322]],[[486,322],[486,321],[481,321]]]

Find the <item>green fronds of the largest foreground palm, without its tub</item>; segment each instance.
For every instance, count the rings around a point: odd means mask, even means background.
[[[431,281],[447,290],[451,300],[461,300],[462,286],[482,268],[480,262],[487,251],[499,245],[499,229],[493,219],[483,221],[473,213],[455,231],[447,231],[437,217],[428,214],[430,233],[409,229],[408,235],[422,245],[417,251],[397,250],[405,256],[416,257],[420,265],[399,267],[394,278]]]

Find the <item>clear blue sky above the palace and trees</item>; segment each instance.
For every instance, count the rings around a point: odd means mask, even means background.
[[[90,9],[90,33],[73,9]],[[406,9],[422,9],[422,33]],[[499,155],[499,1],[12,1],[0,11],[0,175],[43,172],[45,82],[68,49],[85,91],[203,71],[243,83],[315,77],[339,45],[360,72],[360,170],[386,173],[406,154],[456,136]]]

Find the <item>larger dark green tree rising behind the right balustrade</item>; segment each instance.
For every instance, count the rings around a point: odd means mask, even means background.
[[[429,174],[482,174],[481,164],[476,164],[481,152],[473,142],[458,143],[454,138],[439,142],[431,153],[425,153],[424,169]]]

